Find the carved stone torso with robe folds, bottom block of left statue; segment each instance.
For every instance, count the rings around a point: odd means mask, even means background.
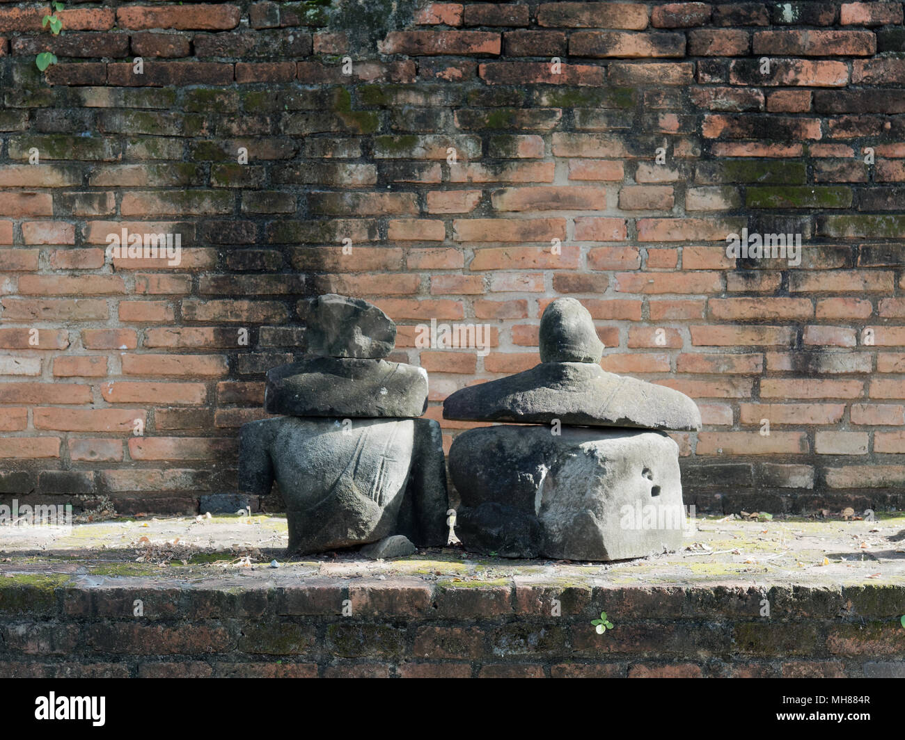
[[[436,466],[439,434],[439,425],[427,419],[344,424],[287,416],[249,422],[240,431],[239,488],[263,495],[274,480],[279,484],[290,553],[395,534],[419,546],[440,545],[445,540],[433,537],[442,531],[448,503],[445,476],[438,477],[443,470]]]

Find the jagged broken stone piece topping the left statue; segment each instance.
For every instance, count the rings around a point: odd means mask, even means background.
[[[367,300],[327,293],[302,306],[309,355],[376,359],[393,351],[395,323]]]

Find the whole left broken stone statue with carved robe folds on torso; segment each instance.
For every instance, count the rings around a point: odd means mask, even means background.
[[[398,536],[443,545],[447,527],[443,443],[423,368],[389,363],[395,325],[358,299],[327,295],[306,311],[310,356],[267,374],[265,408],[287,414],[243,424],[240,486],[262,494],[275,480],[287,506],[291,553],[315,553]],[[414,547],[412,548],[414,550]]]

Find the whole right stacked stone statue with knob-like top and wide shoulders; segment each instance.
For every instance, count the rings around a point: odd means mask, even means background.
[[[686,395],[606,373],[576,299],[540,321],[541,364],[450,395],[443,418],[518,422],[463,432],[449,454],[466,549],[506,557],[620,560],[681,546],[679,447],[700,429]]]

